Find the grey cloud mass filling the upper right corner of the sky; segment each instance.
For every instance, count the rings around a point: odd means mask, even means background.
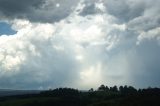
[[[131,30],[148,31],[160,25],[159,0],[107,0],[104,4],[110,15]]]

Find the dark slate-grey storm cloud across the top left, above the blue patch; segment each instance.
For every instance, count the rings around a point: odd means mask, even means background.
[[[1,18],[57,22],[66,18],[79,0],[0,0]]]

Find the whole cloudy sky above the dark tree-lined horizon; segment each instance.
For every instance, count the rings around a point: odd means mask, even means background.
[[[160,0],[0,0],[0,88],[160,87]]]

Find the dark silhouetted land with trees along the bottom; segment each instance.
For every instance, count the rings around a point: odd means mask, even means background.
[[[105,85],[95,91],[57,88],[39,94],[1,97],[0,106],[160,106],[160,89]]]

